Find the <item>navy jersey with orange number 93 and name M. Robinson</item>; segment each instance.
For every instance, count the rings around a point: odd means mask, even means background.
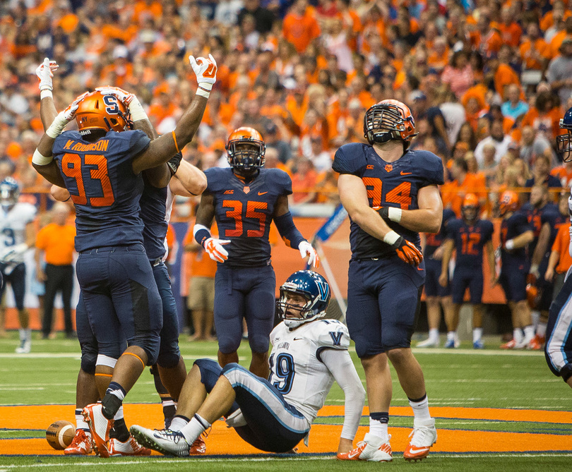
[[[76,206],[78,252],[143,242],[143,178],[131,162],[149,143],[143,131],[109,131],[95,143],[77,131],[56,138],[54,159]]]

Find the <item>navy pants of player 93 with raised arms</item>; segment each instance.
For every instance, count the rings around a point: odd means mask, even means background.
[[[143,244],[81,253],[76,264],[85,309],[97,344],[117,342],[117,322],[129,346],[157,361],[162,302]]]

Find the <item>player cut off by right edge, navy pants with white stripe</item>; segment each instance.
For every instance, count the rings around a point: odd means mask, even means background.
[[[566,130],[556,138],[556,147],[564,162],[572,160],[572,108],[560,120],[560,128]],[[572,222],[572,190],[568,198],[568,212]],[[568,252],[572,256],[572,230]],[[572,387],[572,267],[566,272],[566,279],[556,299],[550,305],[544,356],[548,367],[557,377]]]

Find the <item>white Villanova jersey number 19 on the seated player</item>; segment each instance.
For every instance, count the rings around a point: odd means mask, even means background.
[[[324,349],[347,351],[350,334],[338,320],[316,320],[290,331],[281,322],[270,333],[272,352],[268,381],[312,423],[334,377],[320,360]]]

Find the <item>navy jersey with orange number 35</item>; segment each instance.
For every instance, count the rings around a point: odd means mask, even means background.
[[[247,185],[229,168],[212,167],[205,176],[205,193],[214,197],[219,238],[231,241],[225,246],[225,266],[269,265],[270,223],[278,197],[292,193],[290,176],[280,169],[261,169]]]

